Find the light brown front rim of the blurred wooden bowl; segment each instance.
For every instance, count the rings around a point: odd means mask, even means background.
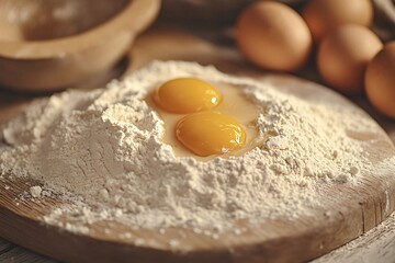
[[[129,0],[124,9],[108,21],[75,35],[45,41],[0,41],[0,58],[63,58],[100,45],[103,39],[120,32],[137,35],[154,21],[159,7],[160,0]]]

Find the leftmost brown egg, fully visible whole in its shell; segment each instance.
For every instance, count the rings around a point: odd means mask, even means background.
[[[303,19],[287,5],[272,1],[256,2],[241,13],[236,38],[251,62],[281,71],[302,67],[312,47]]]

